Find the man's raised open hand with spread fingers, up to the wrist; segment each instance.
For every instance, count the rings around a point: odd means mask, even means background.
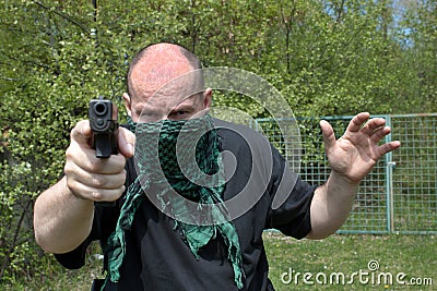
[[[355,116],[342,137],[335,140],[334,131],[327,121],[320,121],[324,150],[332,171],[358,184],[379,158],[401,146],[400,142],[378,143],[391,132],[382,118],[370,119],[368,112]]]

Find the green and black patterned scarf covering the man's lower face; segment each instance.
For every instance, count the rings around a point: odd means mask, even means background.
[[[236,228],[226,219],[226,208],[222,204],[225,178],[218,136],[211,117],[146,123],[134,123],[129,119],[128,128],[137,136],[134,158],[138,177],[128,187],[115,231],[103,245],[108,257],[106,281],[119,281],[119,268],[126,255],[125,231],[131,228],[145,195],[151,198],[153,195],[161,209],[170,213],[175,229],[182,232],[181,237],[196,258],[199,259],[198,251],[202,246],[215,239],[217,233],[222,235],[234,269],[235,283],[238,289],[243,288],[241,251]],[[209,217],[204,218],[205,221],[218,222],[202,223],[202,218],[197,217],[199,223],[187,223],[184,218],[193,215],[186,207],[187,199],[198,203],[199,210],[202,204],[220,205],[211,207]]]

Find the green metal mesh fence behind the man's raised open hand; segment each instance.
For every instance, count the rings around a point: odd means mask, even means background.
[[[376,117],[376,116],[374,116]],[[437,113],[378,116],[400,141],[400,149],[387,154],[361,184],[353,211],[340,233],[437,233]],[[311,184],[329,175],[319,122],[328,120],[342,135],[352,117],[297,119],[300,138],[284,138],[277,121],[256,120],[255,128],[269,137],[296,169],[295,149],[286,141],[302,142],[299,174]],[[281,120],[283,124],[294,120]],[[283,132],[283,131],[282,131]],[[339,137],[339,136],[338,136]],[[293,148],[293,150],[290,150]]]

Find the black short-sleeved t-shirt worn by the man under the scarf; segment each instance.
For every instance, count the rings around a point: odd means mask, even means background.
[[[306,237],[311,229],[309,209],[315,187],[299,180],[259,133],[220,120],[214,122],[227,177],[223,199],[241,198],[228,207],[229,214],[236,217],[233,221],[243,253],[241,290],[273,290],[268,279],[262,232],[277,229],[296,239]],[[129,184],[135,178],[132,160],[127,162],[127,172]],[[275,197],[285,202],[277,207]],[[123,196],[117,207],[96,206],[86,241],[70,253],[56,255],[64,267],[83,266],[90,242],[109,237],[122,201]],[[108,283],[105,290],[237,290],[221,235],[202,247],[199,259],[196,258],[182,233],[175,228],[175,221],[147,198],[137,210],[126,240],[127,254],[118,287]]]

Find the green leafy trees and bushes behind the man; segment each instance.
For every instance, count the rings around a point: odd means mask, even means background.
[[[88,100],[122,108],[127,63],[143,46],[174,41],[205,65],[255,72],[299,117],[435,111],[437,14],[425,2],[395,15],[391,1],[2,1],[0,280],[42,271],[33,202],[61,174]],[[238,95],[215,104],[268,117]]]

